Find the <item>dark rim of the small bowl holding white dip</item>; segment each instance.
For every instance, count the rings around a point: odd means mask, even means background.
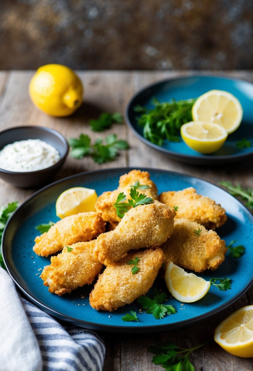
[[[60,138],[63,145],[64,145],[63,155],[60,156],[59,160],[55,164],[53,164],[49,167],[46,167],[44,169],[40,169],[40,170],[36,170],[36,171],[10,171],[10,170],[6,170],[6,169],[2,169],[0,167],[0,172],[1,173],[14,174],[14,175],[18,175],[18,174],[22,174],[22,175],[24,175],[24,174],[33,175],[34,174],[35,175],[35,174],[45,173],[49,170],[53,170],[55,167],[57,167],[59,165],[60,162],[65,161],[65,159],[68,155],[68,152],[69,152],[69,144],[68,144],[67,139],[56,129],[45,127],[45,126],[36,126],[36,125],[14,126],[12,128],[8,128],[8,129],[4,129],[4,130],[0,131],[0,136],[1,136],[1,134],[5,133],[7,131],[12,131],[12,130],[16,130],[16,129],[21,129],[21,130],[22,129],[30,129],[30,128],[39,129],[39,131],[47,131],[47,132],[50,132],[51,134],[55,135],[56,137]],[[37,139],[40,139],[40,138],[37,138]],[[11,143],[9,143],[9,144],[11,144]],[[1,151],[1,149],[0,149],[0,151]]]

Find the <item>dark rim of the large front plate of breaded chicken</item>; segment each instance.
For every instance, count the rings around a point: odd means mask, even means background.
[[[39,189],[35,193],[33,193],[29,198],[27,198],[27,200],[25,200],[16,209],[16,211],[14,211],[12,216],[7,221],[6,227],[5,227],[4,232],[3,232],[2,243],[1,243],[1,252],[2,252],[3,261],[4,261],[4,264],[6,266],[7,272],[9,273],[9,275],[12,278],[12,280],[14,281],[14,283],[18,286],[18,288],[24,293],[24,295],[27,298],[29,298],[33,303],[35,303],[40,308],[42,308],[46,313],[49,313],[50,315],[53,315],[54,317],[56,317],[60,320],[67,321],[69,323],[79,325],[79,326],[84,327],[84,328],[95,329],[97,331],[125,332],[125,333],[129,333],[129,334],[131,334],[131,333],[148,333],[148,332],[158,332],[158,331],[169,331],[171,329],[186,327],[186,326],[195,324],[196,322],[200,322],[200,321],[202,321],[206,318],[210,318],[211,316],[213,316],[216,313],[222,311],[223,309],[227,308],[227,306],[229,306],[232,303],[234,303],[235,301],[237,301],[237,299],[239,299],[252,285],[253,275],[252,275],[252,278],[250,279],[249,283],[242,290],[240,290],[240,292],[237,293],[236,296],[233,296],[233,298],[231,298],[226,303],[223,303],[222,305],[218,306],[217,308],[215,308],[212,311],[207,312],[205,314],[201,314],[201,315],[198,315],[194,318],[186,319],[184,321],[179,321],[179,322],[175,322],[175,323],[171,323],[171,324],[168,324],[168,323],[167,324],[157,324],[157,325],[155,324],[155,325],[147,325],[147,326],[142,326],[142,327],[138,327],[138,326],[136,326],[136,324],[134,326],[131,326],[130,324],[128,324],[128,326],[96,324],[95,322],[76,319],[74,317],[71,317],[71,316],[68,316],[68,315],[64,314],[63,312],[60,312],[60,311],[57,311],[57,310],[53,309],[49,305],[45,305],[40,299],[37,299],[34,295],[27,292],[27,290],[22,286],[22,283],[19,282],[19,279],[16,277],[15,272],[12,271],[12,264],[11,263],[9,264],[9,262],[7,260],[8,259],[7,258],[7,253],[6,253],[6,256],[5,256],[5,249],[4,249],[4,242],[5,242],[5,239],[6,239],[7,229],[9,227],[9,225],[12,223],[12,220],[13,220],[14,216],[19,212],[19,210],[22,209],[25,204],[31,202],[33,200],[33,198],[37,197],[40,193],[42,193],[43,191],[45,191],[45,190],[47,190],[47,189],[51,188],[52,186],[57,185],[59,183],[64,183],[65,181],[68,181],[68,180],[71,180],[71,179],[74,179],[74,178],[78,178],[78,177],[83,177],[85,175],[93,175],[93,174],[96,174],[96,173],[108,173],[108,171],[115,171],[115,172],[125,171],[125,172],[128,172],[128,171],[134,170],[135,168],[136,167],[116,167],[116,168],[98,169],[98,170],[94,170],[94,171],[84,171],[84,172],[81,172],[81,173],[70,175],[69,177],[59,179],[59,180],[57,180],[53,183],[50,183],[50,184],[46,185],[45,187],[43,187],[41,189]],[[193,179],[200,180],[201,183],[205,183],[205,184],[208,184],[208,185],[212,185],[213,187],[219,188],[224,193],[229,194],[229,196],[233,197],[235,202],[239,203],[240,208],[242,208],[244,210],[244,212],[246,212],[247,215],[250,216],[250,218],[252,219],[252,222],[253,222],[252,213],[250,213],[250,211],[247,209],[246,206],[244,206],[244,204],[241,201],[239,201],[237,198],[232,196],[229,192],[227,192],[223,188],[219,187],[218,185],[216,185],[216,184],[214,184],[210,181],[204,180],[203,178],[200,178],[200,177],[193,177],[192,175],[182,174],[182,173],[178,173],[176,171],[170,171],[170,170],[165,170],[165,169],[157,169],[157,168],[150,168],[150,167],[138,167],[138,168],[141,171],[148,171],[148,172],[149,171],[155,171],[155,172],[159,172],[159,173],[172,174],[172,175],[176,175],[176,176],[179,175],[179,176],[184,177],[184,178],[193,178]]]

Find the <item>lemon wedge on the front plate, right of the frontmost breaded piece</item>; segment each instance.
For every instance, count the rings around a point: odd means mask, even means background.
[[[206,281],[194,273],[187,273],[172,262],[167,266],[165,282],[171,295],[183,303],[200,300],[206,295],[211,285],[210,281]]]

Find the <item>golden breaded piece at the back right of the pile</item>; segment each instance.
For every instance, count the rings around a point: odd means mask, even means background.
[[[220,227],[227,220],[223,207],[210,198],[197,194],[193,187],[182,191],[162,192],[159,201],[170,207],[177,206],[176,218],[196,221],[207,229]]]

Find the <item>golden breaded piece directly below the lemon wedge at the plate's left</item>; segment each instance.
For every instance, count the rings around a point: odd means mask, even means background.
[[[66,216],[55,223],[48,232],[35,238],[33,251],[37,255],[48,256],[62,250],[66,245],[89,241],[105,232],[105,222],[101,213],[93,211]]]

